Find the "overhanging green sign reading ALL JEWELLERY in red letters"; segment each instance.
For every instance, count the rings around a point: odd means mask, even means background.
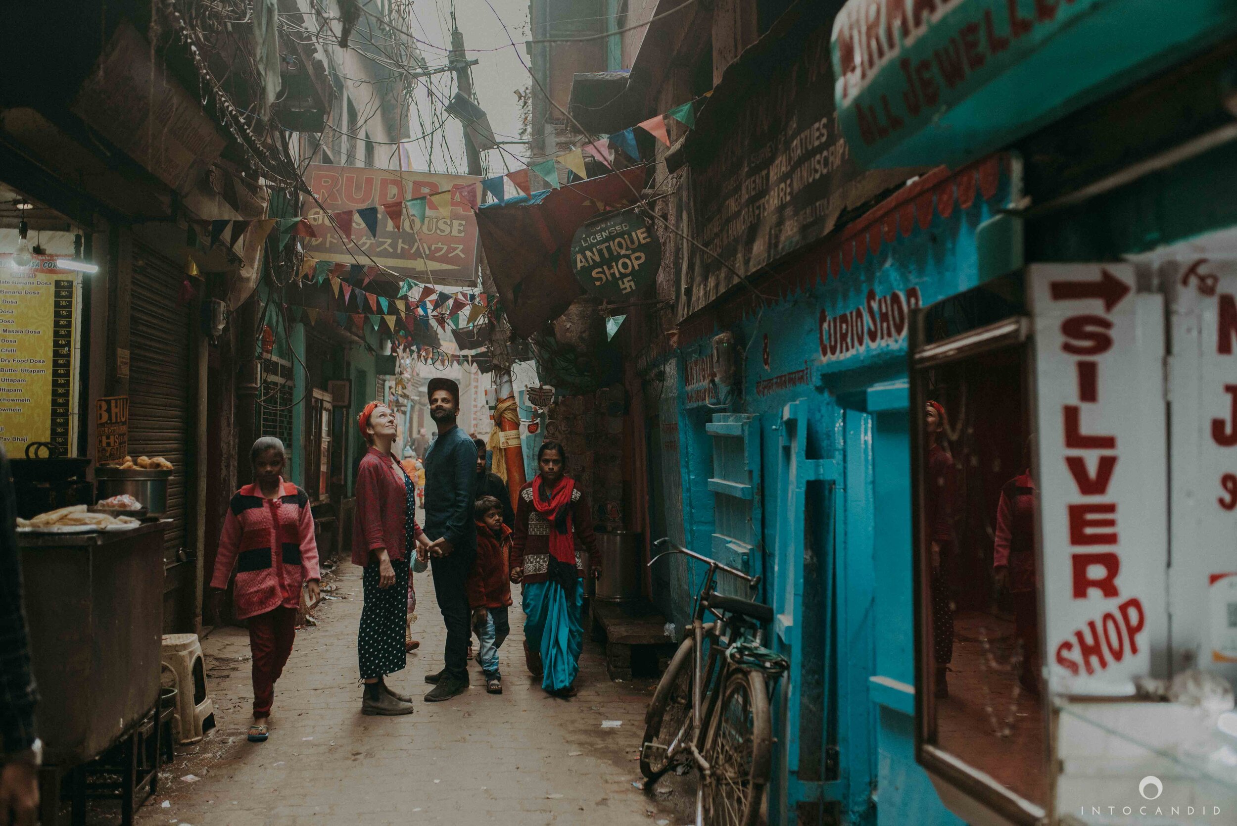
[[[850,0],[834,98],[861,164],[960,166],[1233,31],[1233,0]]]

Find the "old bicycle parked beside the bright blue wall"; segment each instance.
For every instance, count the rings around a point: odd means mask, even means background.
[[[717,571],[748,587],[756,587],[758,576],[669,539],[653,544],[663,543],[669,550],[651,559],[649,566],[683,554],[706,564],[709,573],[696,594],[691,634],[674,653],[644,713],[640,770],[653,783],[675,765],[694,767],[700,774],[696,826],[755,826],[773,754],[769,691],[788,665],[761,644],[761,627],[773,620],[773,608],[713,590]],[[717,620],[705,623],[705,611]]]

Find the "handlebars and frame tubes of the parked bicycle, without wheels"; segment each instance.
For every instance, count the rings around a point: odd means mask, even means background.
[[[708,602],[709,595],[713,594],[713,586],[714,586],[714,582],[716,581],[717,571],[719,570],[720,571],[725,571],[726,574],[730,574],[731,576],[735,576],[735,577],[737,577],[737,579],[747,582],[747,585],[750,587],[756,587],[756,585],[760,584],[760,579],[761,577],[760,576],[748,576],[743,571],[740,571],[740,570],[736,570],[734,568],[730,568],[729,565],[722,565],[721,563],[719,563],[715,559],[709,559],[708,556],[701,556],[700,554],[693,553],[693,551],[688,550],[687,548],[679,548],[678,545],[675,545],[674,543],[672,543],[668,538],[667,539],[658,539],[657,542],[653,543],[654,547],[656,545],[661,545],[661,544],[668,545],[669,550],[666,550],[666,551],[658,554],[657,556],[653,556],[652,559],[649,559],[648,560],[648,566],[649,568],[652,568],[653,563],[657,561],[658,559],[662,559],[663,556],[673,556],[673,555],[677,555],[677,554],[683,554],[684,556],[690,556],[691,559],[701,561],[701,563],[704,563],[705,565],[709,566],[709,570],[705,574],[704,582],[701,582],[700,590],[696,594],[695,608],[691,612],[691,636],[693,636],[693,639],[695,641],[695,648],[693,649],[693,653],[691,653],[691,660],[693,660],[691,662],[691,674],[693,674],[693,679],[691,679],[691,734],[690,734],[690,737],[688,738],[688,742],[687,742],[687,748],[691,753],[691,759],[693,759],[693,762],[696,765],[696,770],[700,772],[701,777],[709,777],[709,773],[710,773],[709,762],[704,758],[704,754],[700,753],[700,747],[703,746],[703,742],[704,742],[705,722],[706,722],[706,720],[709,717],[711,717],[713,711],[715,709],[715,704],[719,701],[720,694],[721,694],[720,690],[719,691],[713,691],[711,690],[713,689],[713,683],[717,683],[719,686],[725,686],[726,675],[730,671],[730,668],[729,668],[729,665],[726,663],[722,663],[721,668],[717,668],[717,659],[721,657],[721,652],[726,647],[729,647],[729,644],[731,642],[730,634],[731,634],[732,628],[731,628],[731,621],[727,621],[727,620],[722,618],[721,616],[719,616],[715,622],[709,623],[706,626],[705,622],[704,622],[704,612],[705,612],[705,608],[706,608],[705,603]],[[742,623],[740,623],[740,624],[742,624]],[[716,638],[719,642],[724,642],[725,643],[725,645],[722,645],[720,648],[717,645],[714,645],[714,647],[710,648],[710,650],[709,650],[709,664],[708,664],[708,668],[705,668],[705,662],[704,662],[704,641],[705,641],[705,636],[706,634],[709,637]],[[714,704],[714,705],[710,705],[708,712],[703,707],[704,706],[704,691],[705,691],[704,681],[705,681],[705,679],[709,679],[709,681],[710,681],[710,686],[709,686],[710,688],[710,696],[713,697],[713,704]],[[670,743],[670,747],[667,749],[667,757],[668,758],[672,758],[673,754],[678,751],[675,748],[677,746],[678,746],[678,741]],[[704,784],[703,783],[696,789],[696,826],[704,826]]]

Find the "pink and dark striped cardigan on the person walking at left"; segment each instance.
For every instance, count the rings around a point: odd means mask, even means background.
[[[267,500],[256,483],[246,485],[224,518],[210,587],[228,587],[236,569],[233,601],[240,620],[297,607],[302,581],[320,579],[309,496],[282,479],[280,488],[280,498]]]

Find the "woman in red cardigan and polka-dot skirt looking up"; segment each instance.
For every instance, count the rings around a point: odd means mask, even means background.
[[[365,569],[365,607],[356,634],[365,684],[361,713],[411,715],[412,699],[392,690],[385,678],[407,664],[408,554],[418,545],[428,548],[429,540],[413,517],[416,486],[391,453],[395,413],[386,404],[370,402],[356,417],[356,427],[370,445],[356,469],[353,516],[353,564]]]

